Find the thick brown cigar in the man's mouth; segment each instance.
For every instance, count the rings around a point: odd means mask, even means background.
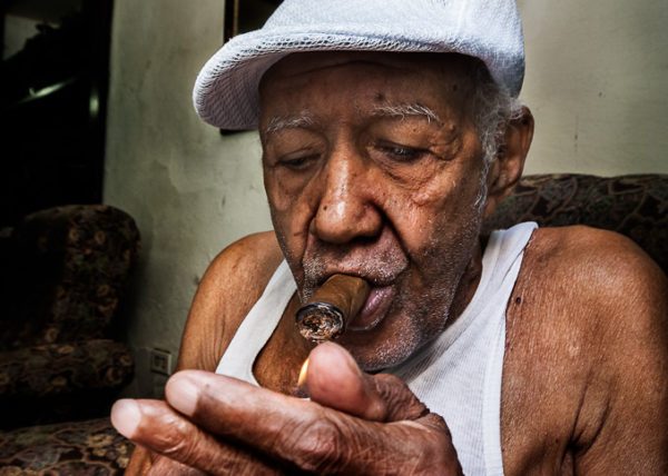
[[[364,306],[371,287],[362,278],[333,275],[297,311],[297,329],[316,343],[335,339],[345,333],[350,319]]]

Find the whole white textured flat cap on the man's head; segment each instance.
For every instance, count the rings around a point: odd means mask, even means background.
[[[193,92],[197,113],[223,129],[257,128],[262,76],[299,51],[458,52],[482,60],[513,97],[524,78],[513,0],[285,0],[262,29],[206,62]]]

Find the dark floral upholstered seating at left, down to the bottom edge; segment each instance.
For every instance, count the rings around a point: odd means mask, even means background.
[[[2,239],[0,468],[129,450],[108,415],[134,371],[114,318],[138,247],[132,218],[104,205],[38,211]]]

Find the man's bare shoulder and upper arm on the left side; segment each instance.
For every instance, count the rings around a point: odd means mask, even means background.
[[[273,231],[242,238],[216,256],[188,314],[179,368],[215,369],[282,260]]]

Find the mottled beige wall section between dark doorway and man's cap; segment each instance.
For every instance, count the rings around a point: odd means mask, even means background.
[[[112,37],[105,200],[141,232],[128,303],[139,379],[129,391],[149,395],[163,379],[149,375],[147,350],[177,355],[207,264],[271,225],[256,136],[223,138],[191,107],[195,76],[223,41],[223,2],[116,0]]]

